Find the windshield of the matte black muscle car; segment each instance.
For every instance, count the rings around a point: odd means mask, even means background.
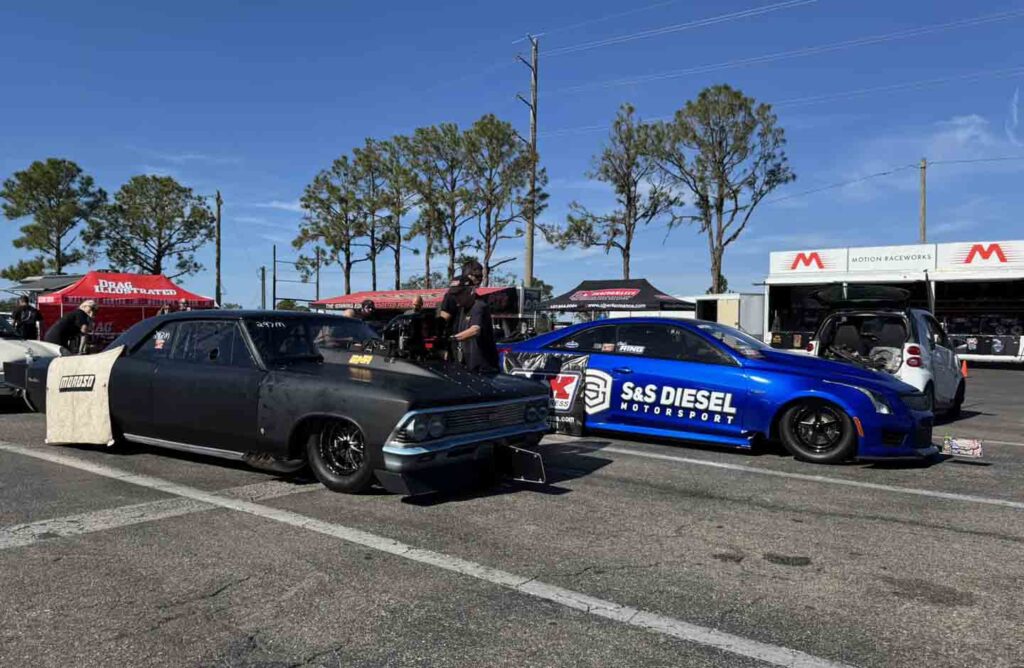
[[[266,318],[246,319],[245,324],[266,364],[336,363],[353,343],[380,338],[361,321],[338,316],[294,318],[267,314]]]

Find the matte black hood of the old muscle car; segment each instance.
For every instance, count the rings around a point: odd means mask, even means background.
[[[362,357],[366,360],[368,357]],[[364,364],[292,364],[279,371],[316,376],[326,381],[368,383],[409,403],[411,409],[454,404],[547,396],[537,381],[505,374],[479,374],[445,363],[414,363],[382,356]],[[358,359],[358,356],[356,356]]]

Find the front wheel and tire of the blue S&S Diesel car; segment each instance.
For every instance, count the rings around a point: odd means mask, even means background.
[[[790,454],[815,464],[836,464],[857,452],[857,433],[846,411],[821,401],[794,404],[779,418],[778,433]]]

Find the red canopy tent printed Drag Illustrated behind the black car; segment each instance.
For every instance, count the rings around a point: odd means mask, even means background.
[[[93,330],[95,342],[113,340],[135,323],[156,316],[164,304],[184,299],[191,308],[216,305],[213,299],[183,290],[163,275],[89,272],[67,288],[39,296],[43,326],[49,327],[86,299],[99,306]]]

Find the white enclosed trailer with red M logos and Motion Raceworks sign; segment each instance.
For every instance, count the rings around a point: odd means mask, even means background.
[[[827,285],[868,283],[909,290],[965,360],[1024,363],[1024,241],[982,241],[771,253],[765,281],[765,341],[807,345]]]

